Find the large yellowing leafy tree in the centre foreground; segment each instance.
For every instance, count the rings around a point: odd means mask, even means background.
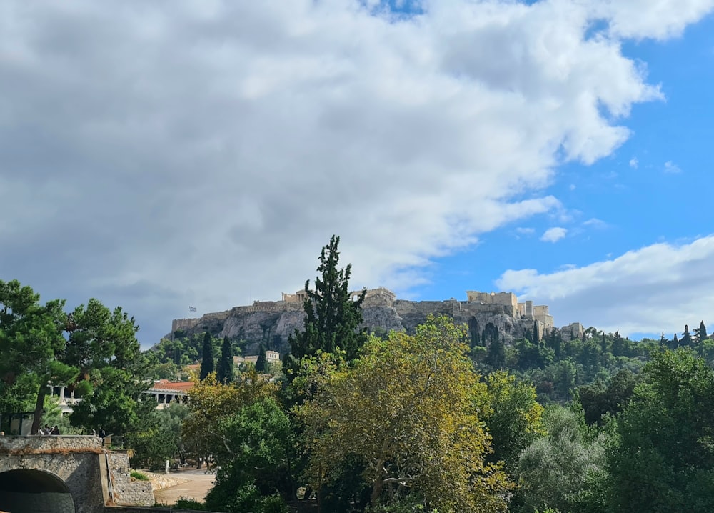
[[[312,484],[356,457],[373,506],[410,495],[444,513],[504,511],[510,484],[485,461],[486,385],[463,339],[466,329],[430,317],[413,337],[371,337],[353,366],[328,374],[299,410]]]

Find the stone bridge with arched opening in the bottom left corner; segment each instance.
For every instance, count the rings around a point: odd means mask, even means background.
[[[104,513],[153,506],[148,482],[132,482],[129,457],[97,437],[0,437],[0,512]]]

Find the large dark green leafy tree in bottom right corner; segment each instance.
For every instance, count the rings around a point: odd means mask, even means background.
[[[656,352],[608,451],[612,507],[714,511],[714,371],[690,349]]]

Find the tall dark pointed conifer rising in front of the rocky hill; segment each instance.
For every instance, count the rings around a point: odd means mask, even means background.
[[[349,289],[352,266],[338,269],[339,242],[340,238],[333,235],[329,244],[323,246],[317,268],[321,277],[315,278],[315,289],[310,289],[310,280],[305,282],[303,331],[296,330],[288,337],[291,352],[283,359],[283,369],[290,380],[299,372],[303,357],[339,348],[351,362],[367,339],[366,330],[360,328],[366,291],[352,298]]]

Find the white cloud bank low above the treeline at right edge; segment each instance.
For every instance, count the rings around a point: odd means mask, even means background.
[[[558,326],[578,321],[607,332],[664,330],[672,337],[685,324],[714,325],[714,235],[681,246],[653,244],[550,274],[509,270],[497,284],[548,304]]]

